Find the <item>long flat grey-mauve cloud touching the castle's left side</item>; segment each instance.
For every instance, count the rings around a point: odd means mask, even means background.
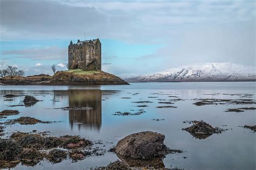
[[[33,60],[64,60],[68,56],[68,48],[61,48],[58,46],[36,47],[24,50],[3,51],[2,55],[13,55],[15,57],[30,58]]]

